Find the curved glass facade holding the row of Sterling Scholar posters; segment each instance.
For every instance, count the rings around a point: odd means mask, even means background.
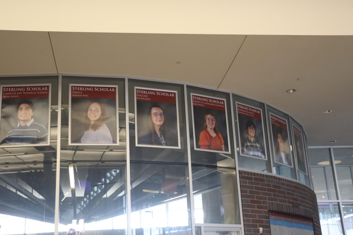
[[[128,77],[0,85],[0,234],[244,233],[239,169],[312,187],[303,128],[261,101]]]

